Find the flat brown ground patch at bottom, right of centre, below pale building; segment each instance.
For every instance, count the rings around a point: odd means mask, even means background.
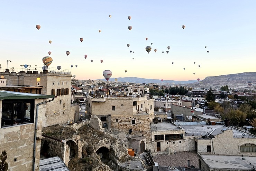
[[[172,155],[155,155],[153,156],[153,160],[157,162],[159,166],[171,167],[184,167],[188,165],[188,160],[190,160],[190,165],[199,168],[199,156],[195,151],[180,152]]]

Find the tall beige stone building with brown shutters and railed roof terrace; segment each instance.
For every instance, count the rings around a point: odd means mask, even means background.
[[[55,96],[54,101],[46,104],[43,127],[79,120],[79,104],[71,105],[72,75],[70,70],[67,72],[5,72],[1,74],[6,77],[7,85],[27,86],[10,89],[10,91]]]

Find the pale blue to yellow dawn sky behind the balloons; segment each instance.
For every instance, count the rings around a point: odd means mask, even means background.
[[[7,60],[9,68],[42,68],[48,51],[49,67],[76,79],[102,79],[104,70],[111,78],[177,81],[255,72],[255,7],[255,0],[2,1],[1,72]]]

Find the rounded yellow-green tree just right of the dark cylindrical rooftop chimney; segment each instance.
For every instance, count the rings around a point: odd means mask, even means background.
[[[246,113],[241,112],[240,110],[232,109],[226,114],[226,118],[229,119],[232,124],[234,123],[237,126],[239,125],[240,122],[244,122],[246,117]]]

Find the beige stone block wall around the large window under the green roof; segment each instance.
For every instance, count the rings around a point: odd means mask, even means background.
[[[35,99],[35,104],[42,101],[43,99]],[[36,106],[34,112],[36,114]],[[42,115],[43,105],[39,105],[37,136],[40,136],[42,132]],[[1,118],[2,101],[0,101],[0,122]],[[6,150],[9,170],[33,170],[34,134],[35,120],[34,123],[13,125],[11,127],[4,127],[0,129],[0,153]],[[39,166],[40,144],[41,140],[36,140],[36,170],[38,170]]]

